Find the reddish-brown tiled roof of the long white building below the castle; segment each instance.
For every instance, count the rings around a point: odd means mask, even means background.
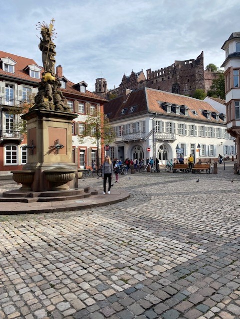
[[[175,113],[167,113],[161,105],[164,102],[177,104],[179,106],[185,105],[189,109],[189,115],[186,116],[183,114],[178,115]],[[130,112],[131,107],[134,107],[134,112]],[[124,114],[122,114],[123,109],[125,110]],[[174,116],[183,119],[223,123],[222,120],[216,121],[213,117],[211,117],[211,120],[208,120],[203,115],[204,110],[210,111],[211,113],[219,113],[209,103],[202,100],[150,88],[142,88],[131,92],[128,96],[127,101],[125,102],[124,97],[120,96],[118,98],[110,100],[109,103],[104,106],[104,113],[108,114],[111,120],[119,120],[120,118],[123,119],[131,116],[136,116],[138,114],[147,114],[150,112],[167,115],[169,117]],[[192,111],[195,111],[197,115],[195,115]]]

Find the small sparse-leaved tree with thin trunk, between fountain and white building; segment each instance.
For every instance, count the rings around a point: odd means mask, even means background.
[[[99,146],[101,146],[101,142],[104,144],[110,144],[115,141],[115,133],[113,132],[109,119],[106,115],[95,113],[87,116],[85,121],[85,131],[78,135],[79,142],[83,143],[84,138],[86,137],[93,138],[97,145],[96,164],[98,168]]]

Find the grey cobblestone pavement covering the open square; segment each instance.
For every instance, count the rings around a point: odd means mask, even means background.
[[[239,319],[240,176],[226,166],[120,176],[131,196],[114,205],[1,215],[0,318]]]

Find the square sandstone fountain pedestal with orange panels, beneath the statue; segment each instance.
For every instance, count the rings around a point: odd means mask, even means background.
[[[77,165],[72,162],[72,120],[76,117],[74,113],[44,109],[22,115],[27,122],[28,159],[21,175],[34,171],[28,184],[32,191],[53,190],[57,181],[61,183],[58,189],[77,188]]]

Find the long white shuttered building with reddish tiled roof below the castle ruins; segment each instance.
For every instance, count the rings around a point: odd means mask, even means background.
[[[112,158],[157,157],[166,164],[180,156],[177,149],[195,163],[213,162],[219,154],[235,157],[226,115],[207,102],[149,88],[129,91],[104,106],[116,134]]]

